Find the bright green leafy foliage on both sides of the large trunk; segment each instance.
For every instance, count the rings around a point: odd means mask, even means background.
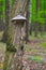
[[[13,0],[10,0],[10,4],[11,4],[11,8],[13,6]],[[30,1],[31,2],[31,1]],[[30,6],[30,12],[32,10],[32,14],[30,14],[30,18],[32,19],[32,22],[40,22],[40,23],[45,23],[45,18],[42,16],[46,15],[46,1],[45,0],[40,0],[40,10],[39,10],[39,15],[37,15],[37,18],[36,18],[36,0],[32,0],[32,6]],[[0,17],[5,17],[5,14],[3,14],[3,12],[5,12],[5,0],[0,0]],[[32,15],[32,16],[31,16]]]

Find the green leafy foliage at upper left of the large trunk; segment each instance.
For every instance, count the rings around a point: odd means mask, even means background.
[[[13,5],[13,0],[10,0],[11,8]],[[0,0],[0,17],[5,17],[5,0]]]

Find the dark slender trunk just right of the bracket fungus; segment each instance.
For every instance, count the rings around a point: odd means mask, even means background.
[[[30,3],[30,0],[28,0],[27,2],[26,43],[28,42],[28,37],[29,37],[29,3]]]

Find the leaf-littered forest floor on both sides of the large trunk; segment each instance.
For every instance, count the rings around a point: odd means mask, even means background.
[[[0,42],[0,70],[3,70],[5,43]],[[25,44],[24,70],[46,70],[46,39],[29,39]]]

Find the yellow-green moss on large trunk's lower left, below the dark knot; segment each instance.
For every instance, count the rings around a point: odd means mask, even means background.
[[[5,52],[5,57],[4,57],[4,62],[3,62],[3,70],[6,70],[7,66],[9,66],[9,60],[10,60],[10,56],[13,56],[14,52]]]

